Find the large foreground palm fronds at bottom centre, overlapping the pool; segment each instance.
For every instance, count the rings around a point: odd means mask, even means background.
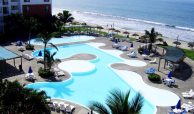
[[[130,91],[123,93],[120,90],[113,90],[106,99],[106,106],[99,102],[91,102],[90,108],[99,114],[139,114],[143,106],[143,97],[138,93],[129,101]]]

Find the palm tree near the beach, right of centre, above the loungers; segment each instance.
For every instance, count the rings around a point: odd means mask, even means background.
[[[154,28],[151,29],[151,31],[145,30],[145,36],[149,38],[150,41],[150,48],[149,51],[152,49],[152,44],[156,42],[156,38],[158,37],[159,33],[155,31]]]

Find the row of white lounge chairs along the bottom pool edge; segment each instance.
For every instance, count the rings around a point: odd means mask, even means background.
[[[49,107],[51,109],[54,109],[56,111],[62,111],[68,114],[72,114],[73,111],[75,110],[75,106],[64,103],[64,102],[57,102],[57,101],[53,101],[51,102],[51,104],[49,104]]]

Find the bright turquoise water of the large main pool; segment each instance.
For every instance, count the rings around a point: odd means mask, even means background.
[[[56,50],[48,48],[51,52]],[[59,51],[55,58],[64,59],[74,54],[87,53],[94,54],[97,60],[90,60],[96,66],[96,70],[87,74],[72,74],[72,78],[64,82],[40,82],[27,85],[28,88],[44,90],[51,98],[66,99],[88,106],[90,101],[99,101],[105,103],[105,99],[109,91],[119,88],[126,92],[131,90],[131,96],[135,95],[135,91],[122,80],[110,68],[109,64],[122,62],[121,59],[107,54],[87,44],[74,44],[58,47]],[[38,56],[38,51],[33,55]],[[83,66],[84,67],[84,66]],[[147,100],[141,114],[153,114],[155,106]]]

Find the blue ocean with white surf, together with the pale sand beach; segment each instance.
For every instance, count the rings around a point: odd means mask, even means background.
[[[152,27],[164,36],[194,42],[194,0],[55,0],[53,11],[70,10],[78,21],[131,32]]]

